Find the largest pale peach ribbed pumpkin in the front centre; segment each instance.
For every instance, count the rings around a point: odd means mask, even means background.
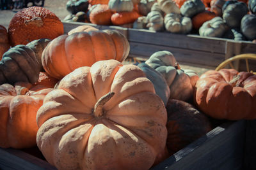
[[[164,152],[166,120],[138,66],[101,60],[77,68],[45,97],[36,143],[57,169],[149,169]]]

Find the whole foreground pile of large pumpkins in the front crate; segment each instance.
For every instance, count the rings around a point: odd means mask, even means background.
[[[0,29],[0,147],[37,146],[57,169],[150,169],[212,120],[256,118],[256,75],[199,77],[168,51],[122,64],[129,49],[115,30],[64,34],[49,10],[16,13]]]

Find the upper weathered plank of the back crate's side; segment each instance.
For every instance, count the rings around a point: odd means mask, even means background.
[[[128,29],[129,41],[211,53],[225,53],[226,40],[202,36]]]

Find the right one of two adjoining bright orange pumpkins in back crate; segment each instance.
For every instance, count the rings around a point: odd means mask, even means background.
[[[140,17],[137,11],[116,12],[111,16],[113,25],[124,25],[136,21]]]

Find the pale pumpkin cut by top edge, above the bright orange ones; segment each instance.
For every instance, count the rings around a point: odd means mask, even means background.
[[[131,0],[109,0],[108,7],[115,12],[132,11],[133,3]]]

